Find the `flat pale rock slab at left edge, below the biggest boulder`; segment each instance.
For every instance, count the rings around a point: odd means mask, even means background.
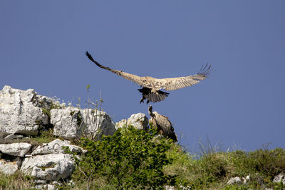
[[[12,156],[24,157],[25,154],[31,149],[31,144],[26,142],[16,142],[12,144],[0,144],[0,152]]]

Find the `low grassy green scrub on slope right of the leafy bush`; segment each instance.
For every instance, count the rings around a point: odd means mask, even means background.
[[[165,174],[177,175],[177,186],[191,189],[264,189],[283,188],[273,184],[274,176],[284,173],[284,149],[258,149],[254,152],[207,152],[200,157],[181,151],[179,145],[172,146],[169,157],[177,157],[165,167]],[[247,184],[227,185],[231,177],[248,176]]]

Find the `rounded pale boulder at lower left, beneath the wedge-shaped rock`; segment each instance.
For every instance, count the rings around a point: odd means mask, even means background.
[[[24,159],[21,171],[24,174],[48,181],[66,179],[75,169],[71,154],[46,154]]]

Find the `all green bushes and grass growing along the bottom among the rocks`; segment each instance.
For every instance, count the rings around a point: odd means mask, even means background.
[[[151,127],[152,128],[152,127]],[[34,141],[53,137],[43,132]],[[40,140],[41,139],[41,140]],[[74,140],[88,152],[76,158],[73,186],[59,189],[284,189],[274,184],[274,176],[285,172],[285,150],[257,149],[252,152],[223,152],[210,144],[201,145],[201,153],[191,154],[171,139],[157,137],[155,130],[145,132],[133,127],[120,128],[100,141]],[[247,184],[228,185],[231,177],[250,175]],[[33,182],[21,173],[0,176],[0,189],[31,189]]]

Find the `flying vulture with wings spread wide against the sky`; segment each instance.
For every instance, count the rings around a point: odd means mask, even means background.
[[[109,70],[112,73],[115,73],[127,80],[133,81],[137,83],[142,88],[138,89],[140,93],[142,93],[142,99],[140,103],[147,99],[148,102],[160,102],[165,100],[165,97],[169,95],[169,93],[165,93],[160,89],[165,90],[177,90],[180,88],[185,88],[187,86],[192,86],[199,83],[200,80],[204,80],[209,76],[209,73],[212,72],[211,65],[208,66],[208,63],[199,70],[196,75],[189,75],[185,77],[177,77],[177,78],[152,78],[152,77],[140,77],[137,75],[133,75],[130,73],[125,73],[120,70],[114,70],[103,65],[100,65],[97,61],[95,61],[90,53],[86,51],[86,56],[95,63],[98,67]]]

